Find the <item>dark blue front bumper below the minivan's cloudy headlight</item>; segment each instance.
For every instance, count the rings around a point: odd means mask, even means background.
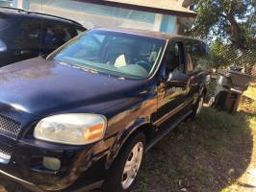
[[[0,163],[0,174],[33,191],[77,191],[99,187],[105,178],[106,153],[95,155],[98,144],[87,147],[57,145],[35,139],[13,140],[0,135],[0,150],[12,149],[7,164]],[[58,171],[42,165],[42,157],[61,160]]]

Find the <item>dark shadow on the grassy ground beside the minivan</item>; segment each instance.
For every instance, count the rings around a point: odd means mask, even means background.
[[[249,118],[204,108],[146,156],[134,192],[221,191],[246,170],[253,149]]]

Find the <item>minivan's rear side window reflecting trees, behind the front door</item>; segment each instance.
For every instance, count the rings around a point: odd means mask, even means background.
[[[209,70],[212,64],[209,47],[199,40],[187,40],[185,44],[188,71]]]

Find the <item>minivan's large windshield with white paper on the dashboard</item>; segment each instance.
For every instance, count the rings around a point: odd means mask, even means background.
[[[144,79],[150,75],[166,40],[133,34],[92,30],[75,37],[47,60],[121,78]]]

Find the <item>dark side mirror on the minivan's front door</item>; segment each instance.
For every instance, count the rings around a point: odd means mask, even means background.
[[[167,83],[177,87],[186,87],[190,82],[190,77],[184,73],[169,73]]]

